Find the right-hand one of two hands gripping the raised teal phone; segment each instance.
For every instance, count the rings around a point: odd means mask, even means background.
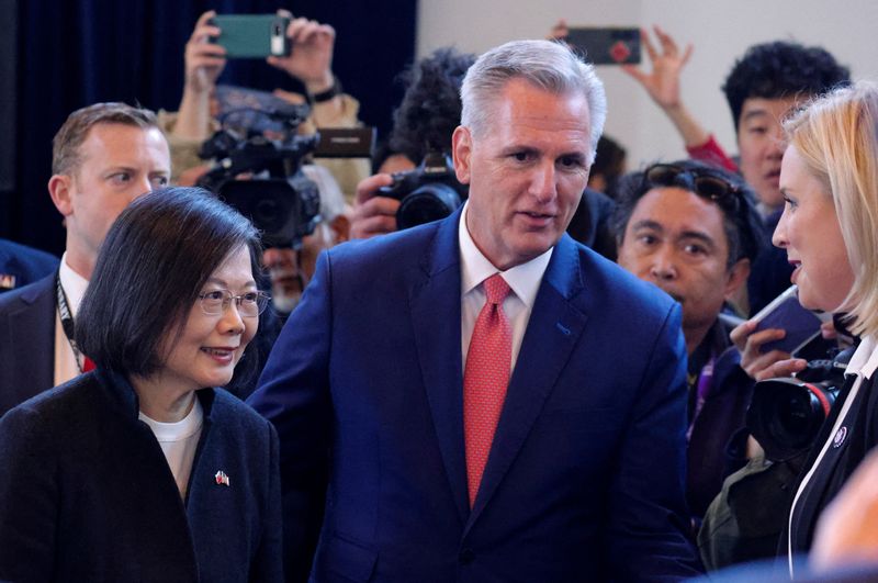
[[[302,81],[308,93],[319,93],[333,87],[335,29],[315,20],[293,19],[286,10],[279,10],[278,14],[292,19],[286,36],[293,51],[289,57],[268,57],[269,65]]]

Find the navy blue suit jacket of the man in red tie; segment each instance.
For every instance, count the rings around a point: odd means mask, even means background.
[[[248,400],[281,439],[289,574],[317,531],[316,582],[696,574],[679,306],[566,235],[470,508],[459,218],[322,255]]]

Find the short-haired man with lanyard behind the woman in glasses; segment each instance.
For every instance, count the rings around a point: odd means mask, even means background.
[[[124,103],[77,110],[55,135],[48,191],[66,250],[52,274],[0,295],[0,415],[88,368],[70,338],[98,248],[131,201],[167,184],[170,166],[156,116]]]

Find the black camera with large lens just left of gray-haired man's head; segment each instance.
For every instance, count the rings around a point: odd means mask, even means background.
[[[393,184],[378,193],[399,201],[396,228],[438,221],[463,204],[470,192],[468,184],[458,182],[451,157],[442,152],[428,152],[420,165],[407,172],[393,175]]]

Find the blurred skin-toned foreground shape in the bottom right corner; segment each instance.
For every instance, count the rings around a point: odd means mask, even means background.
[[[878,561],[878,452],[873,450],[820,515],[814,570]]]

